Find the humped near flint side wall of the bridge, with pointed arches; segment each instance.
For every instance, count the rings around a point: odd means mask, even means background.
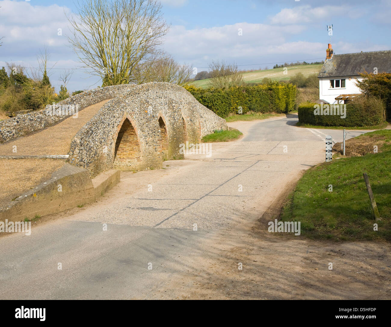
[[[226,130],[225,119],[201,105],[178,85],[151,82],[134,85],[108,101],[72,140],[69,162],[91,177],[111,168],[160,168],[163,160],[183,158],[180,144],[201,142],[214,130]]]

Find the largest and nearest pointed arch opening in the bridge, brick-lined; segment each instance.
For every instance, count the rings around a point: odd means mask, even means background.
[[[129,119],[122,124],[114,149],[113,166],[120,169],[134,168],[141,161],[140,142]]]

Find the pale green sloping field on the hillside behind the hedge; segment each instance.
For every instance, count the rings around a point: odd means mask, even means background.
[[[273,81],[283,81],[290,80],[293,75],[297,73],[302,73],[305,77],[319,73],[322,65],[299,65],[299,66],[291,66],[288,68],[288,74],[284,75],[283,68],[275,68],[275,69],[267,69],[267,70],[255,70],[248,73],[243,73],[243,80],[246,83],[260,83],[265,77],[270,78]],[[195,87],[202,87],[203,89],[208,88],[209,78],[205,80],[198,80],[190,83],[190,85],[194,85]]]

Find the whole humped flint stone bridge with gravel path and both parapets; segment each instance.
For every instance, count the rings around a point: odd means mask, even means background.
[[[158,169],[183,158],[181,143],[227,129],[183,87],[162,82],[101,87],[51,107],[0,122],[1,220],[94,201],[119,170]]]

